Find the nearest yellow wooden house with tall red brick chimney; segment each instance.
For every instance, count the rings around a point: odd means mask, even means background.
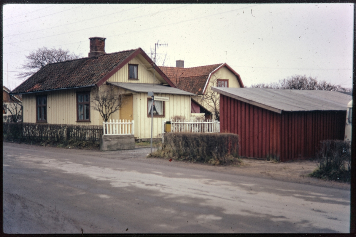
[[[169,98],[155,101],[154,138],[162,133],[162,121],[176,115],[190,119],[190,97],[195,94],[178,89],[141,48],[105,53],[106,38],[89,39],[87,58],[48,64],[12,91],[22,95],[23,122],[103,125],[90,98],[93,88],[109,84],[126,98],[110,119],[134,120],[136,139],[151,137],[149,91]]]

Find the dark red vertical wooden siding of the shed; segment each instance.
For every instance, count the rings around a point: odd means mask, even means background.
[[[315,156],[321,140],[343,139],[346,111],[278,114],[221,95],[220,131],[240,136],[240,156],[281,161]]]

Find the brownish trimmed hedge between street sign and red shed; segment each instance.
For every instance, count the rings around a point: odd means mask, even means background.
[[[229,133],[165,133],[162,149],[153,157],[227,164],[239,154],[239,136]]]

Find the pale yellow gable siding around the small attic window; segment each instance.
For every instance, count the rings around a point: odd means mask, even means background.
[[[137,77],[138,80],[129,80],[129,64],[138,64],[137,69]],[[115,72],[108,81],[112,82],[132,82],[132,83],[153,83],[153,73],[148,71],[148,66],[152,67],[151,65],[147,65],[148,63],[143,63],[137,57],[133,58],[129,63],[123,66],[119,71]],[[161,82],[157,79],[158,73],[155,73],[155,83],[161,84]]]

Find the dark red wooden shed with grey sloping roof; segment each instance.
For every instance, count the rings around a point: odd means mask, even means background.
[[[212,87],[220,131],[240,136],[240,156],[312,158],[321,140],[344,140],[347,103],[337,91]]]

